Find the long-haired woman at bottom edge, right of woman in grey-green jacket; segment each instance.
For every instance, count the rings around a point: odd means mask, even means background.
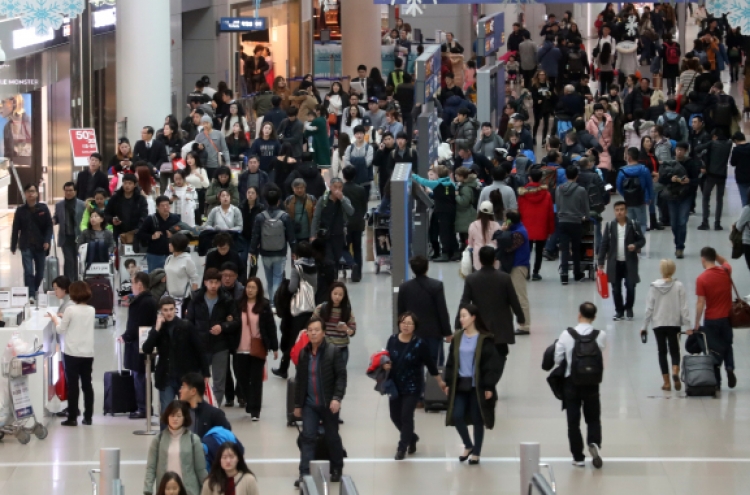
[[[216,451],[211,473],[203,483],[201,495],[258,495],[255,474],[245,463],[239,446],[224,442]]]

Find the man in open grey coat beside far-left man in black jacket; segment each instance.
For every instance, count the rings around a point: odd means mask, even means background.
[[[55,203],[52,222],[57,225],[57,245],[63,250],[63,274],[70,280],[78,280],[78,244],[81,235],[81,219],[86,203],[76,197],[74,182],[63,185],[65,199]]]

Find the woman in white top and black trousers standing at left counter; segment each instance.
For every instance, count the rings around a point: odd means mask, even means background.
[[[94,307],[89,306],[91,288],[86,282],[73,282],[68,289],[71,304],[65,308],[60,321],[56,314],[47,315],[55,325],[57,333],[65,337],[63,364],[65,382],[68,385],[68,419],[63,426],[78,426],[78,395],[83,390],[83,421],[91,425],[94,414],[94,388],[91,386],[91,370],[94,367]],[[80,381],[80,389],[79,389]]]

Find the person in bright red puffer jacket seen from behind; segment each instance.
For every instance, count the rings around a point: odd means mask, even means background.
[[[518,213],[521,214],[521,223],[529,233],[529,243],[534,250],[531,280],[541,280],[539,269],[542,267],[542,252],[547,238],[555,231],[555,211],[547,186],[539,183],[542,171],[532,170],[529,176],[531,182],[518,188]]]

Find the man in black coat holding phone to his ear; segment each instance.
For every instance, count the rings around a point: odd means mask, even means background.
[[[161,313],[143,343],[143,353],[150,355],[154,349],[159,349],[154,386],[159,390],[159,402],[164,411],[179,396],[186,373],[201,373],[204,378],[210,374],[203,355],[205,344],[189,321],[177,317],[174,299],[162,297],[159,307]]]

